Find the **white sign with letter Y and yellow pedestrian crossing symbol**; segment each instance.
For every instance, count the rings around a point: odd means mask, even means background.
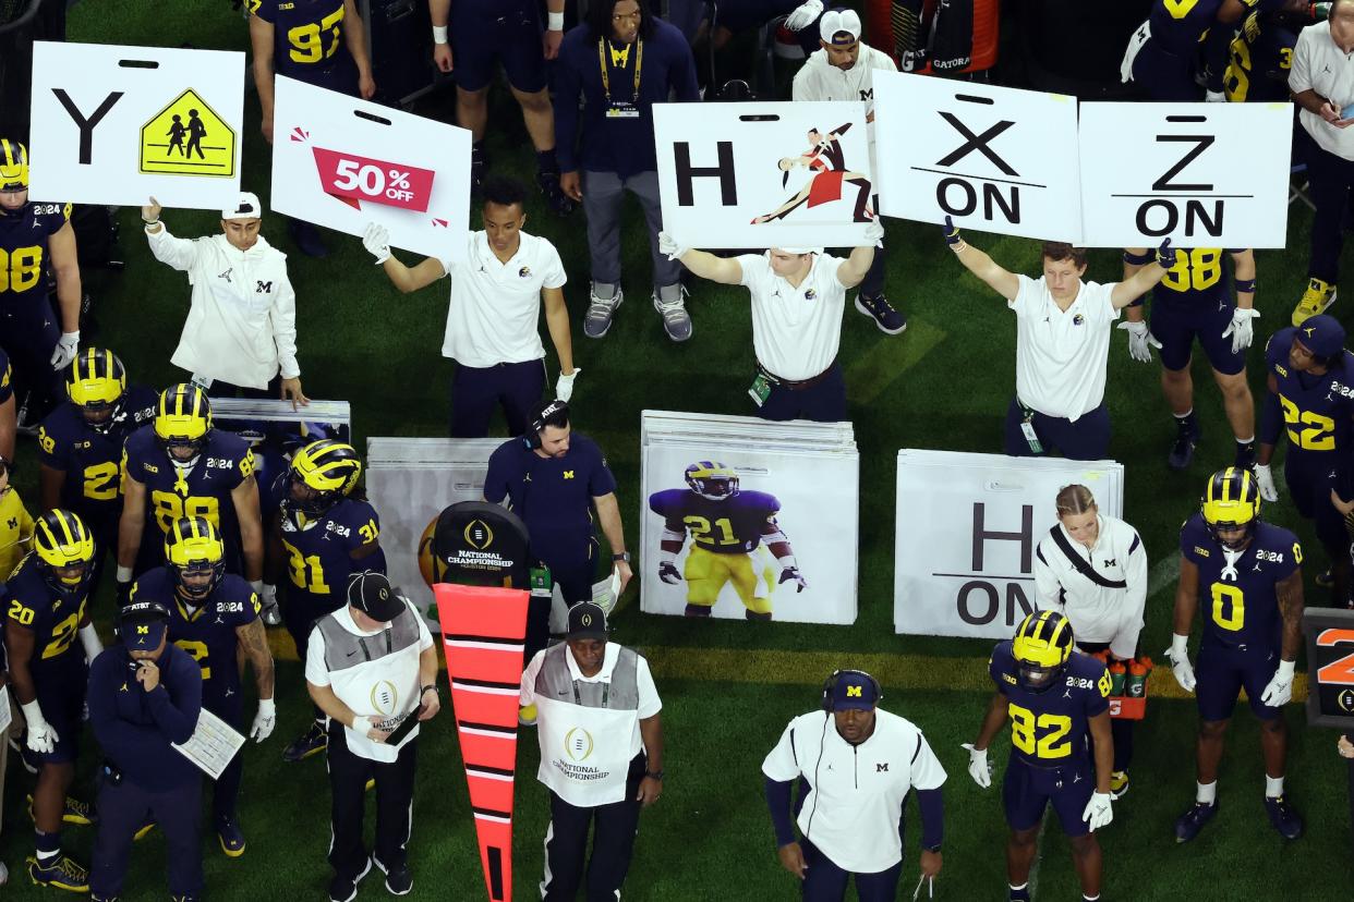
[[[245,55],[39,41],[37,201],[221,210],[240,195]]]

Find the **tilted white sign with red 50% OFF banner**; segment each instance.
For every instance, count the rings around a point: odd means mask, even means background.
[[[439,260],[466,260],[470,133],[279,76],[272,208]]]

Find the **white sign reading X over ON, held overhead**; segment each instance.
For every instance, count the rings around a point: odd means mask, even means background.
[[[887,216],[1078,243],[1076,99],[875,73]]]

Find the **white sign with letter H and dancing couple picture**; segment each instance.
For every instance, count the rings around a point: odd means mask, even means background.
[[[856,247],[875,218],[861,103],[654,105],[663,229],[685,247]]]

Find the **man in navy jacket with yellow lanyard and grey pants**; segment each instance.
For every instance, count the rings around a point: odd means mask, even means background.
[[[565,35],[555,62],[561,185],[588,215],[593,285],[584,333],[605,335],[621,303],[620,207],[630,191],[649,223],[654,307],[668,337],[685,341],[691,316],[678,284],[681,265],[658,253],[662,210],[653,105],[699,99],[696,61],[681,31],[638,0],[593,0],[588,19]]]

